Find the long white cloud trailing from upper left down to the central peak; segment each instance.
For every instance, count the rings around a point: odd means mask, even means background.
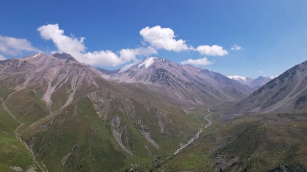
[[[76,38],[75,35],[67,36],[58,24],[44,25],[38,28],[41,38],[52,40],[59,52],[71,54],[78,61],[87,64],[102,66],[117,66],[131,60],[137,60],[136,56],[149,56],[157,54],[153,47],[140,47],[137,49],[122,49],[119,55],[110,50],[86,52],[84,37]]]

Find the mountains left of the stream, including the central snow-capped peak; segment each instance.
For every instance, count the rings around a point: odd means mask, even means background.
[[[65,53],[0,61],[2,108],[19,123],[5,132],[26,143],[37,162],[18,167],[109,171],[144,163],[184,144],[205,121],[199,110],[252,91],[161,58],[107,73],[108,80],[105,74]],[[199,112],[191,115],[194,106]]]

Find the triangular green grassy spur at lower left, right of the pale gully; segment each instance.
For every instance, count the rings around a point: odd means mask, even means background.
[[[90,101],[84,99],[38,129],[24,132],[22,138],[29,137],[28,144],[50,172],[122,168],[124,152],[100,121]]]

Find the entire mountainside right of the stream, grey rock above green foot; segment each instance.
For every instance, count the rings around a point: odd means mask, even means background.
[[[143,171],[307,171],[307,61],[237,103],[208,109],[213,124],[176,155]]]

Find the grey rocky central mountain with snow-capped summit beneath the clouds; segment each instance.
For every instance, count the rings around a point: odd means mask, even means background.
[[[237,101],[253,89],[222,74],[192,65],[179,65],[165,58],[149,57],[114,73],[100,70],[105,79],[142,84],[166,95],[172,102],[207,107]]]

